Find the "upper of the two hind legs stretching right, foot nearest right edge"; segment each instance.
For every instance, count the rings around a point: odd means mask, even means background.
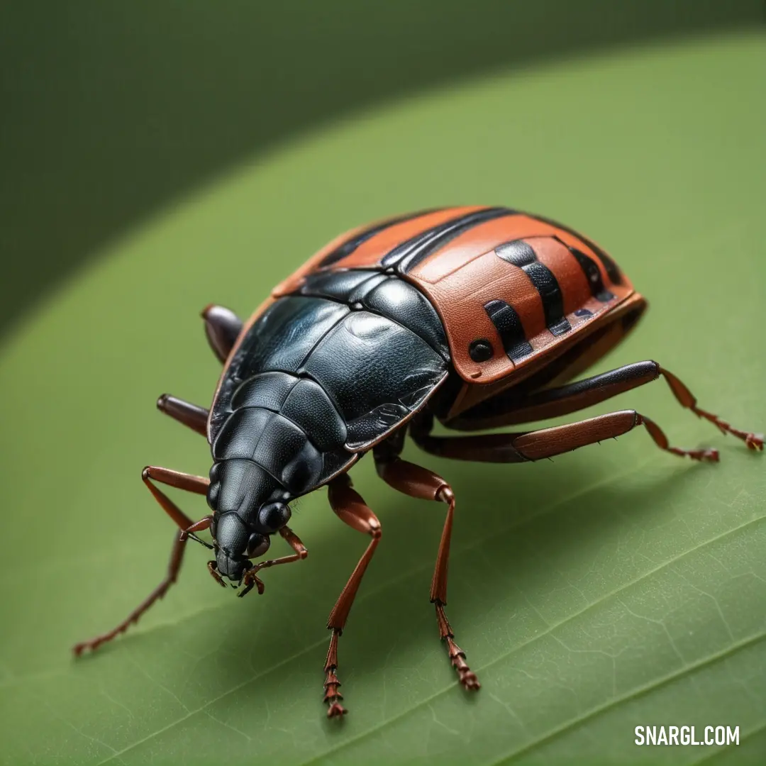
[[[711,421],[724,433],[733,434],[744,440],[751,449],[763,449],[762,434],[733,428],[717,415],[699,409],[696,406],[696,398],[675,375],[656,362],[650,361],[634,362],[632,365],[625,365],[558,388],[546,388],[532,393],[511,389],[458,415],[448,425],[457,430],[480,430],[559,417],[656,381],[660,375],[665,377],[670,389],[683,407]]]

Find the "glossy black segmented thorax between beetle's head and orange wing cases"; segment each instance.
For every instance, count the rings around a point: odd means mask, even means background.
[[[449,358],[411,284],[371,270],[309,275],[253,322],[221,378],[211,506],[247,514],[326,483],[417,411]]]

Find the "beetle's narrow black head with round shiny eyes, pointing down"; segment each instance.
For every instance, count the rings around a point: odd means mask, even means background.
[[[251,559],[268,551],[270,535],[290,520],[288,497],[250,461],[215,463],[210,479],[208,504],[214,511],[211,534],[218,572],[240,583],[253,566]]]

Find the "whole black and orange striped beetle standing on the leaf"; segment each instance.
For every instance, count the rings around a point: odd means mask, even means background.
[[[684,408],[762,450],[764,437],[697,406],[679,378],[653,361],[572,382],[636,325],[647,301],[612,258],[571,228],[502,207],[440,208],[389,218],[331,241],[242,322],[208,306],[208,342],[224,364],[209,410],[163,394],[158,408],[208,438],[209,478],[157,466],[142,480],[181,529],[165,579],[126,620],[78,643],[95,650],[126,630],[175,583],[188,539],[214,551],[219,584],[264,592],[258,573],[306,558],[290,529],[290,502],[328,487],[329,505],[370,542],[329,615],[324,666],[329,718],[344,714],[338,643],[381,540],[381,523],[348,471],[372,452],[381,479],[447,506],[430,601],[450,663],[465,689],[480,688],[444,607],[455,496],[450,484],[402,460],[405,433],[427,453],[523,463],[645,427],[657,447],[716,462],[717,450],[670,446],[634,410],[542,430],[436,436],[434,419],[473,431],[571,414],[665,378]],[[157,486],[207,496],[192,522]],[[213,545],[197,532],[209,529]],[[292,552],[264,556],[274,535]]]

